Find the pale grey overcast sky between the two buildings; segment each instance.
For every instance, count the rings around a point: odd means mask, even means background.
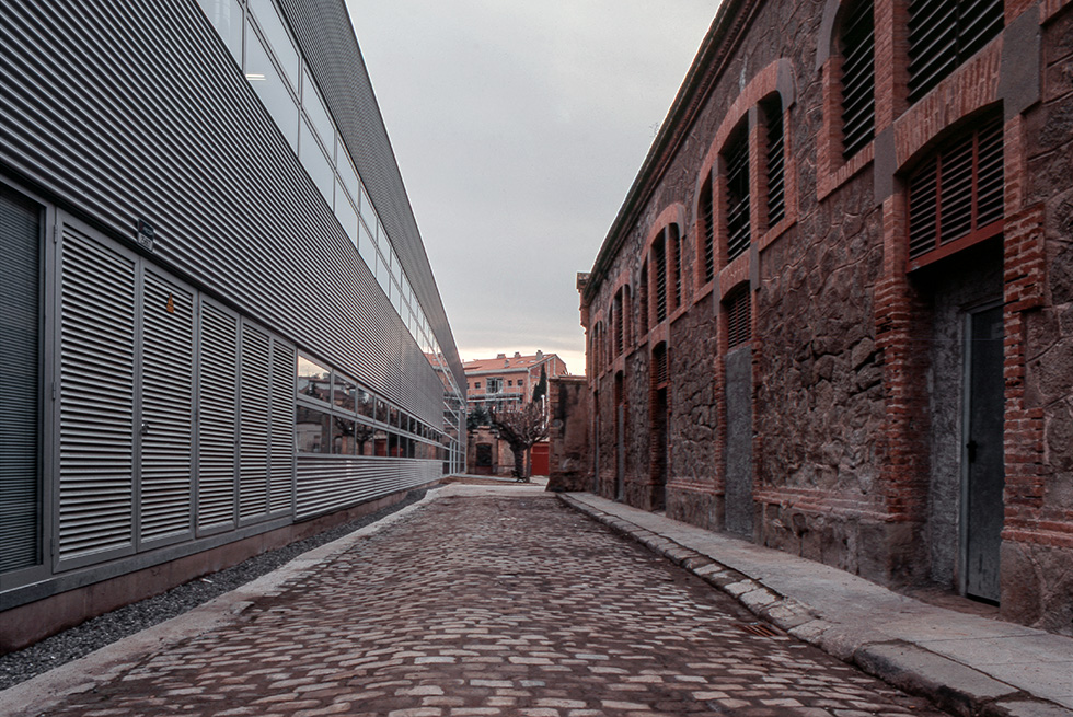
[[[596,254],[717,0],[347,0],[463,360],[585,371]]]

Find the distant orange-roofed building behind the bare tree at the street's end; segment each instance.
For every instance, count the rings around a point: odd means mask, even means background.
[[[536,351],[529,356],[499,354],[494,359],[475,359],[462,365],[465,371],[468,408],[471,417],[489,409],[523,406],[532,401],[533,390],[543,371],[547,379],[567,375],[566,363],[555,354]],[[466,470],[483,475],[508,475],[515,466],[514,454],[486,423],[471,420],[468,437]],[[533,449],[533,474],[547,473],[547,444]]]

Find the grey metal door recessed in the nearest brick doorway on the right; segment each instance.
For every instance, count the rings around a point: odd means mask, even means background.
[[[965,350],[965,592],[997,602],[1005,484],[1002,307],[968,315]]]

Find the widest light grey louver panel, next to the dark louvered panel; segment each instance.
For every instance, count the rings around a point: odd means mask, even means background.
[[[135,262],[65,227],[58,555],[134,544]]]

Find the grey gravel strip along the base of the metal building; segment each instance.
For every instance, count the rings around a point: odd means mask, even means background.
[[[426,490],[411,490],[393,506],[362,516],[343,525],[336,525],[312,537],[291,543],[275,551],[262,553],[233,567],[197,578],[168,592],[141,602],[119,608],[88,620],[81,625],[45,638],[30,647],[0,656],[0,691],[48,672],[95,649],[111,645],[128,635],[170,620],[197,608],[204,602],[230,592],[261,576],[272,573],[302,553],[343,537],[370,523],[402,510],[425,497]]]

